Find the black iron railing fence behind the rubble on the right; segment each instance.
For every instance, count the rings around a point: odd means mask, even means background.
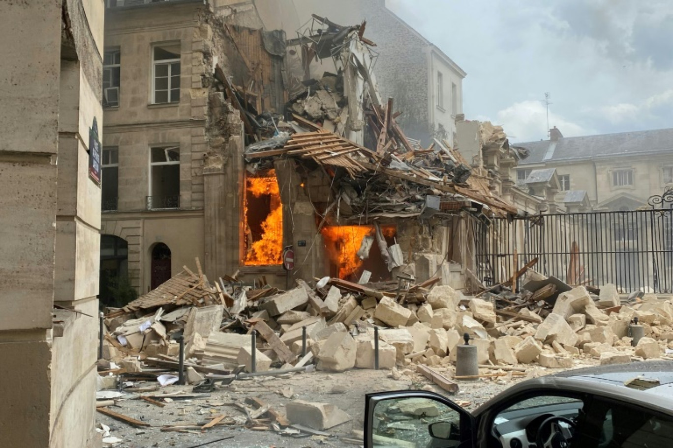
[[[534,269],[571,285],[613,283],[621,292],[673,292],[672,210],[550,214],[476,222],[476,268],[502,283]]]

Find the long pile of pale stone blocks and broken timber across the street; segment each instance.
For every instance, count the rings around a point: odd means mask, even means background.
[[[248,372],[314,362],[326,371],[372,369],[375,334],[383,369],[450,366],[463,334],[477,347],[480,367],[489,369],[534,363],[570,368],[587,357],[623,363],[661,357],[673,348],[672,302],[645,294],[622,305],[613,285],[602,287],[600,296],[579,286],[539,299],[555,288],[538,281],[545,285],[537,292],[488,293],[482,299],[438,285],[436,277],[402,289],[400,283],[361,285],[325,277],[316,287],[299,280],[287,292],[228,278],[213,286],[203,274],[182,272],[108,313],[104,355],[120,366],[114,373],[158,377],[175,371],[178,335],[184,337],[191,382],[239,365]],[[497,306],[502,300],[513,305]],[[629,337],[634,318],[644,335],[636,347]]]

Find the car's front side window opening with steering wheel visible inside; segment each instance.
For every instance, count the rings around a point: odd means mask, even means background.
[[[583,400],[568,396],[544,394],[525,398],[495,416],[492,435],[503,447],[536,445],[538,433],[544,442],[555,437],[569,440],[583,407]],[[552,417],[555,418],[549,420]]]

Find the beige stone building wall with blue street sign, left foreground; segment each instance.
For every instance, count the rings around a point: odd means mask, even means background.
[[[0,17],[0,445],[98,447],[104,2]]]

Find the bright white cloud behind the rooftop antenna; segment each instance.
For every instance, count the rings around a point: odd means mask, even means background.
[[[512,140],[528,142],[547,138],[546,109],[540,101],[521,101],[498,111],[497,122],[502,124]],[[570,122],[549,112],[549,126],[556,126],[563,136],[581,136],[594,133],[593,130]]]

